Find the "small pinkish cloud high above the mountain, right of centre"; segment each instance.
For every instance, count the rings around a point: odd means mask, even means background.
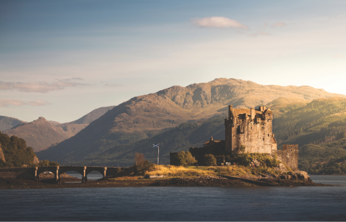
[[[240,22],[226,18],[226,17],[204,17],[204,18],[193,18],[192,23],[200,27],[214,27],[214,28],[240,28],[248,29],[247,25],[243,25]]]

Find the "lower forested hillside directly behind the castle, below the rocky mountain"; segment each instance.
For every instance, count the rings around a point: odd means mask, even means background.
[[[337,162],[346,163],[346,98],[317,99],[305,106],[301,106],[300,101],[287,106],[285,101],[286,98],[278,98],[272,102],[276,108],[283,111],[279,117],[274,118],[273,132],[277,141],[280,141],[279,146],[299,144],[299,167],[307,171],[311,167],[314,168],[316,163],[328,162],[332,163],[333,167]],[[157,150],[152,148],[152,144],[158,142],[160,163],[168,164],[169,152],[188,151],[189,147],[202,146],[210,136],[215,140],[224,139],[224,117],[183,123],[151,138],[117,145],[76,164],[131,165],[135,152],[143,153],[146,159],[155,162]],[[285,140],[286,138],[289,139]],[[332,172],[330,165],[325,164],[328,166],[328,172]],[[342,168],[341,166],[339,168]],[[320,170],[321,172],[325,171]]]

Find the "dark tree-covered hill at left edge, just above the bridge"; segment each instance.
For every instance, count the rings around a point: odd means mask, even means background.
[[[0,168],[22,167],[38,163],[36,154],[31,147],[26,146],[25,140],[16,136],[9,137],[0,132]]]

